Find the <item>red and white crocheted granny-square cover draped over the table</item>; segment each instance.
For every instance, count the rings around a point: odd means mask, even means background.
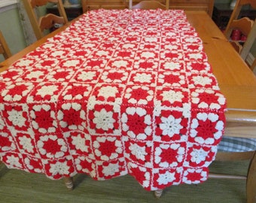
[[[226,101],[180,10],[96,10],[0,75],[0,156],[51,179],[207,180]]]

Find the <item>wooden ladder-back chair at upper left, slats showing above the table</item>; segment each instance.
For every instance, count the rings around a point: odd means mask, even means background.
[[[45,6],[47,3],[56,4],[59,11],[59,16],[54,14],[46,14],[44,16],[37,17],[37,14],[35,14],[35,8]],[[44,37],[44,35],[46,35],[44,32],[45,30],[57,28],[58,26],[68,23],[68,18],[66,16],[66,11],[62,4],[62,0],[23,0],[23,4],[37,39],[41,39]]]

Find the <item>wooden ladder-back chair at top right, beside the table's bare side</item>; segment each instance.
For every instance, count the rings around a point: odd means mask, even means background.
[[[256,28],[252,29],[254,25],[254,20],[250,20],[248,17],[239,18],[242,7],[245,5],[250,5],[251,8],[256,9],[255,0],[237,0],[235,8],[233,8],[233,12],[230,16],[230,20],[227,23],[227,27],[224,31],[224,35],[226,35],[226,38],[230,40],[230,43],[244,60],[248,56],[249,50],[251,49],[252,43],[255,38],[254,36],[256,35]],[[245,44],[243,46],[242,44],[240,44],[241,35],[244,35],[246,38]],[[249,35],[250,38],[248,38]],[[244,49],[243,52],[242,49]],[[256,62],[254,61],[250,68],[254,68],[255,64]]]

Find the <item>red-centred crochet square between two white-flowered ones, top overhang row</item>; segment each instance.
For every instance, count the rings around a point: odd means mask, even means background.
[[[145,140],[152,133],[151,128],[151,109],[145,108],[126,108],[122,114],[123,132],[130,138]]]

